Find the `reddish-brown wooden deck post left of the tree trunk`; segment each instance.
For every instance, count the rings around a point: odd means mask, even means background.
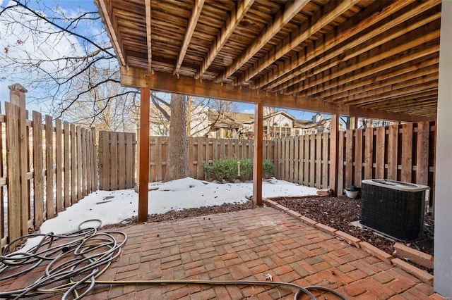
[[[150,89],[140,89],[140,144],[138,161],[138,221],[148,220],[149,192],[149,99]]]

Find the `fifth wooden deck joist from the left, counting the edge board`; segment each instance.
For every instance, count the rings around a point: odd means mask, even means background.
[[[249,61],[259,50],[265,46],[272,37],[274,37],[292,18],[302,10],[302,8],[309,3],[309,0],[295,0],[288,1],[285,6],[278,11],[275,18],[270,24],[266,26],[266,29],[258,35],[250,46],[242,52],[242,56],[234,60],[234,63],[227,67],[225,73],[223,73],[217,82],[222,82],[227,77],[237,71],[246,61]]]

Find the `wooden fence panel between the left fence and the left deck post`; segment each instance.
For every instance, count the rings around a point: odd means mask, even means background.
[[[136,135],[99,132],[99,189],[114,191],[135,185]]]

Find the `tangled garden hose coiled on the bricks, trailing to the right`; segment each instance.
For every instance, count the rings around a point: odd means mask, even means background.
[[[90,220],[92,221],[92,220]],[[100,223],[100,221],[99,221]],[[30,237],[42,237],[37,246],[28,252],[8,254],[11,246]],[[289,287],[297,290],[295,300],[302,294],[311,299],[316,297],[310,292],[321,290],[346,299],[333,289],[320,286],[301,287],[287,282],[254,280],[96,280],[109,265],[121,254],[121,246],[127,236],[119,231],[97,232],[97,228],[81,229],[66,235],[30,234],[19,237],[6,245],[0,256],[0,283],[22,275],[32,276],[37,267],[43,268],[42,275],[28,287],[13,291],[0,292],[1,298],[20,299],[40,294],[62,293],[61,299],[81,299],[90,293],[95,285],[266,285],[271,287]],[[30,274],[27,274],[30,273]]]

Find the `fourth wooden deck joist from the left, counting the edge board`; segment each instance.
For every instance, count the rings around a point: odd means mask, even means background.
[[[210,46],[207,56],[203,59],[201,69],[199,69],[196,73],[196,79],[201,78],[209,68],[210,64],[218,55],[222,47],[225,46],[227,40],[231,37],[232,33],[234,33],[234,30],[237,28],[240,21],[242,21],[246,13],[249,11],[249,8],[251,8],[251,5],[253,5],[254,1],[255,0],[239,1],[238,5],[235,6],[235,8],[231,11],[231,14],[228,16],[225,25],[220,30],[220,34],[215,38],[212,46]]]

